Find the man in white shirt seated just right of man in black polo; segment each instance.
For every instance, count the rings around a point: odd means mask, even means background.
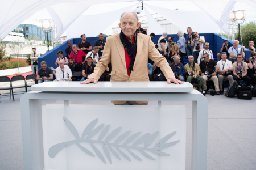
[[[226,55],[226,52],[221,53],[221,60],[217,62],[218,66],[218,84],[220,86],[220,94],[222,95],[224,90],[222,88],[223,80],[229,81],[229,86],[234,82],[232,73],[233,73],[233,65],[232,62],[229,61]]]

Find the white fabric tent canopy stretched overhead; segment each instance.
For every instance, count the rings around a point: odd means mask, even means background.
[[[251,7],[256,8],[256,2],[250,0],[238,0],[243,3],[247,3]],[[0,18],[0,41],[3,40],[13,29],[15,29],[24,20],[30,18],[31,15],[36,12],[47,9],[49,14],[52,16],[56,28],[57,37],[67,30],[67,32],[76,32],[77,35],[86,32],[89,35],[98,35],[101,32],[117,20],[120,14],[124,11],[129,11],[134,8],[134,5],[138,2],[133,0],[0,0],[1,8],[1,18]],[[130,6],[122,6],[120,9],[120,2],[130,2]],[[119,10],[109,10],[102,15],[83,15],[86,10],[92,5],[100,5],[112,3],[112,6],[116,6]],[[118,3],[118,5],[117,5]],[[180,0],[180,1],[143,1],[144,6],[146,6],[148,11],[155,11],[162,15],[165,19],[175,24],[180,29],[185,31],[185,28],[192,27],[195,30],[203,32],[216,32],[216,28],[220,27],[225,33],[228,33],[227,22],[228,15],[232,10],[232,7],[236,3],[234,0]],[[106,4],[106,6],[108,5]],[[168,4],[168,5],[167,5]],[[183,6],[189,4],[187,10],[183,9]],[[177,6],[179,10],[175,10],[174,6]],[[195,10],[198,9],[198,10]],[[108,9],[107,9],[108,10]],[[155,32],[162,32],[159,24],[148,14],[149,12],[145,10],[148,25],[150,29],[156,30]],[[112,18],[108,18],[112,17]],[[86,18],[85,18],[86,17]],[[104,18],[104,20],[99,19],[99,17]],[[81,21],[79,19],[86,19],[89,22],[94,22],[96,27],[90,27],[88,22]],[[198,18],[198,19],[196,19]],[[101,24],[96,23],[100,21]],[[80,25],[73,27],[80,22]],[[86,23],[86,24],[84,24]],[[79,27],[83,27],[79,28]],[[100,28],[98,28],[100,27]],[[73,29],[71,29],[73,28]],[[80,31],[77,31],[79,29]],[[86,33],[86,34],[88,34]]]

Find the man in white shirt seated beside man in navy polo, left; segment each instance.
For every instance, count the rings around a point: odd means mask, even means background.
[[[72,81],[72,73],[71,70],[69,69],[68,65],[64,65],[64,62],[62,59],[58,61],[59,67],[56,69],[56,80],[57,81],[65,81],[69,80]]]

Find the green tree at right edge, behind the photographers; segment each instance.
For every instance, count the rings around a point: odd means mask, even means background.
[[[245,25],[240,25],[240,31],[242,35],[242,41],[243,41],[243,46],[246,48],[249,48],[249,41],[254,41],[256,43],[256,23],[250,22]],[[238,28],[237,28],[237,33],[236,33],[236,40],[238,38]],[[240,43],[242,44],[242,43]]]

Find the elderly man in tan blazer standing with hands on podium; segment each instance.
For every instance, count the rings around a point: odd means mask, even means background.
[[[167,83],[183,84],[180,80],[175,79],[166,58],[155,49],[150,36],[137,33],[136,30],[141,25],[138,20],[138,16],[133,12],[125,12],[121,15],[119,27],[122,31],[106,39],[103,56],[97,63],[94,73],[81,84],[97,83],[110,60],[112,63],[112,81],[148,81],[148,58],[152,59],[156,66],[161,68],[166,76]],[[112,102],[114,104],[126,103],[126,101]],[[147,101],[137,101],[137,103],[142,104],[147,103]]]

